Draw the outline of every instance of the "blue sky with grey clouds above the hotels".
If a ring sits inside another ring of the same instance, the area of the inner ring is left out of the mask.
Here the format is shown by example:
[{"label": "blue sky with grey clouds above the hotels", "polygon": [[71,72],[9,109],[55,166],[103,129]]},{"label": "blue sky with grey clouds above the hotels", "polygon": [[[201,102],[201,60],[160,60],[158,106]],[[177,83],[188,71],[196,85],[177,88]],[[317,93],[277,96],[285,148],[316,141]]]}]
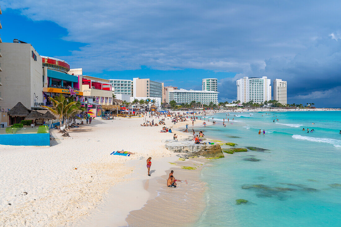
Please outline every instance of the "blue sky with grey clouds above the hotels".
[{"label": "blue sky with grey clouds above the hotels", "polygon": [[150,78],[236,100],[236,80],[287,81],[288,103],[341,107],[341,1],[1,0],[2,42],[106,79]]}]

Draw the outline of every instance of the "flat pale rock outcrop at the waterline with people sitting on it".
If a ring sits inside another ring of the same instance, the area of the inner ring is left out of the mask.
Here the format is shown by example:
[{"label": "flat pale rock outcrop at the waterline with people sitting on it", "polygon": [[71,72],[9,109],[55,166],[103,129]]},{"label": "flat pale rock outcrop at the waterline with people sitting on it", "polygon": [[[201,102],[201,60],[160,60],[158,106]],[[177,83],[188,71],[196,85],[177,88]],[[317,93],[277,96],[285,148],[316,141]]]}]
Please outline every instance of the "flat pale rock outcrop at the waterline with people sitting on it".
[{"label": "flat pale rock outcrop at the waterline with people sitting on it", "polygon": [[165,147],[174,152],[207,158],[224,157],[219,144],[195,144],[193,141],[164,140]]}]

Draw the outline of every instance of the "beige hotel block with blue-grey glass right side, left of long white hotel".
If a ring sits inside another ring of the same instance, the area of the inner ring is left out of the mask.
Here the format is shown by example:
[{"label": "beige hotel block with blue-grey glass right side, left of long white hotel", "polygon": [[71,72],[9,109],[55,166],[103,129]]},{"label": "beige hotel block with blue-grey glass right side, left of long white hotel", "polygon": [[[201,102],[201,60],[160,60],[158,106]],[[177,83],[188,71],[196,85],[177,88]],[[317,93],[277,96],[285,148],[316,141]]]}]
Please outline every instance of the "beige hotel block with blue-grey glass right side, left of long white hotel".
[{"label": "beige hotel block with blue-grey glass right side, left of long white hotel", "polygon": [[150,79],[133,78],[133,96],[162,98],[163,83]]}]

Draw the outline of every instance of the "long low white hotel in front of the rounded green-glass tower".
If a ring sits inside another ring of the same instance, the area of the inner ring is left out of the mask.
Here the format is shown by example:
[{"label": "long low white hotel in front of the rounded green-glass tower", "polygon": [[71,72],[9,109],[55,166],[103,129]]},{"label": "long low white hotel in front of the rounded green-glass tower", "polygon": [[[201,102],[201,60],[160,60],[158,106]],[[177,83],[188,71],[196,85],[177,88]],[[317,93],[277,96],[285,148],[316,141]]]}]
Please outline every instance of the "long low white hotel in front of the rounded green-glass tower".
[{"label": "long low white hotel in front of the rounded green-glass tower", "polygon": [[210,91],[194,91],[177,89],[168,92],[169,101],[175,100],[177,104],[191,103],[191,101],[201,102],[201,104],[209,105],[210,102],[218,104],[218,93]]}]

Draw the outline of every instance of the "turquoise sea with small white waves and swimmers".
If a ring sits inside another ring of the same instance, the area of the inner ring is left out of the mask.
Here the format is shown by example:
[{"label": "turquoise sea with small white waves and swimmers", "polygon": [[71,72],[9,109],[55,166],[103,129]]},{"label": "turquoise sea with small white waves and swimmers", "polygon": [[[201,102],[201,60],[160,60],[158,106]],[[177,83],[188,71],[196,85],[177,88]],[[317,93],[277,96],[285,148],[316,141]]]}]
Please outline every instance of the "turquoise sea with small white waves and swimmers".
[{"label": "turquoise sea with small white waves and swimmers", "polygon": [[203,169],[207,207],[195,226],[341,226],[340,111],[245,111],[206,120],[212,117],[217,124],[202,128],[206,136],[268,150],[224,153]]}]

